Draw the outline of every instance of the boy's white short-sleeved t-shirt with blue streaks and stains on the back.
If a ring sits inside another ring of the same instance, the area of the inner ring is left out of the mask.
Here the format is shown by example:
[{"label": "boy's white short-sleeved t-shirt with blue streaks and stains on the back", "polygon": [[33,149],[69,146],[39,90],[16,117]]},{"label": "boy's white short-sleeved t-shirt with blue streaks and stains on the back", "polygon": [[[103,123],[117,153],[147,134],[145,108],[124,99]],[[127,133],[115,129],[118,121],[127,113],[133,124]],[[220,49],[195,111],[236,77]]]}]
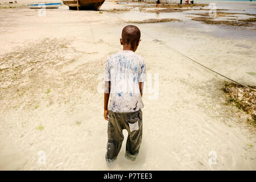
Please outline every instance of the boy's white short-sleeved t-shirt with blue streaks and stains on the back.
[{"label": "boy's white short-sleeved t-shirt with blue streaks and stains on the back", "polygon": [[108,110],[130,113],[143,107],[139,82],[146,81],[146,64],[133,51],[120,51],[106,60],[105,79],[110,81]]}]

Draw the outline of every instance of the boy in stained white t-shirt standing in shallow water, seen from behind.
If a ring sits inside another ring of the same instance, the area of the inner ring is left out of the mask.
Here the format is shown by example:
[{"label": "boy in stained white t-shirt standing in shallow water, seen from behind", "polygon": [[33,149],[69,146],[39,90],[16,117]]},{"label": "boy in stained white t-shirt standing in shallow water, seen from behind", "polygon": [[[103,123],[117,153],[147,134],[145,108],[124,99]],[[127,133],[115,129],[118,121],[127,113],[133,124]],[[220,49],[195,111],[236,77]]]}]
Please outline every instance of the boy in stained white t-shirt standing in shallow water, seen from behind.
[{"label": "boy in stained white t-shirt standing in shallow water, seen from behind", "polygon": [[117,158],[124,138],[123,129],[128,131],[127,159],[135,160],[141,146],[142,89],[146,81],[146,64],[135,53],[139,42],[139,28],[133,25],[124,27],[120,39],[123,51],[110,55],[106,60],[104,118],[109,121],[106,162]]}]

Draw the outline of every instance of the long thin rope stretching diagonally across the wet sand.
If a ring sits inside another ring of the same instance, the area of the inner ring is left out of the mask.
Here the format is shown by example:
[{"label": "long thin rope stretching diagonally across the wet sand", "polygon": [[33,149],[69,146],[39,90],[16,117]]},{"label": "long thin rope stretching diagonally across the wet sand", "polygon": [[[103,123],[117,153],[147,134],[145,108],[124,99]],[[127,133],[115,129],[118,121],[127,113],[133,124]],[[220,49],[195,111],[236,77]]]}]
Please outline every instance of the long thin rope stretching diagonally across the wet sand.
[{"label": "long thin rope stretching diagonally across the wet sand", "polygon": [[[109,5],[108,5],[108,6],[109,6]],[[120,18],[117,14],[114,14],[114,15],[117,16],[118,19],[121,19],[122,22],[128,23],[126,20],[123,20],[122,18]],[[142,31],[142,32],[143,32],[144,34],[146,34],[147,36],[149,36],[150,38],[155,39],[155,40],[158,40],[158,39],[154,38],[153,36],[147,34],[146,32],[144,32],[144,31]],[[205,68],[205,69],[208,69],[209,71],[214,72],[214,73],[216,73],[217,75],[220,75],[220,76],[222,76],[222,77],[224,77],[224,78],[226,78],[226,79],[228,79],[228,80],[230,80],[230,81],[235,82],[235,83],[238,84],[238,85],[244,86],[244,87],[246,87],[246,88],[248,88],[248,89],[253,90],[254,92],[256,92],[255,89],[250,88],[249,86],[243,85],[243,84],[241,84],[240,82],[237,82],[237,81],[233,80],[232,78],[229,78],[229,77],[227,77],[227,76],[225,76],[225,75],[222,75],[221,73],[218,73],[218,72],[214,71],[213,69],[208,68],[207,66],[205,66],[205,65],[203,65],[203,64],[201,64],[201,63],[199,63],[199,62],[197,62],[196,60],[194,60],[194,59],[192,59],[192,58],[190,58],[190,57],[184,55],[183,53],[177,51],[176,49],[174,49],[174,48],[168,46],[166,43],[163,42],[163,44],[164,44],[164,46],[166,46],[167,48],[169,48],[171,51],[174,51],[174,52],[176,52],[177,54],[179,54],[179,55],[181,55],[181,56],[183,56],[183,57],[185,57],[185,58],[187,58],[187,59],[193,61],[194,63],[200,65],[201,67],[203,67],[203,68]]]}]

